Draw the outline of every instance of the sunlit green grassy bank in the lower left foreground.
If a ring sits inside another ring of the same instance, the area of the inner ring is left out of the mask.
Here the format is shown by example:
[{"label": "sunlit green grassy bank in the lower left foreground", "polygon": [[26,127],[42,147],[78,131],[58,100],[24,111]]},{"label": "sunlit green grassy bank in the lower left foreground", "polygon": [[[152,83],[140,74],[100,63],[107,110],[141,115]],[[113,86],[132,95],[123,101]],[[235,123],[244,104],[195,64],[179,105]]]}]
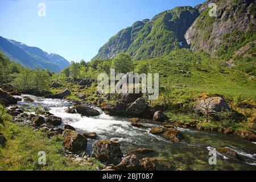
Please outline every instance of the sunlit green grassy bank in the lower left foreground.
[{"label": "sunlit green grassy bank in the lower left foreground", "polygon": [[[102,164],[92,159],[92,165],[79,163],[64,156],[63,139],[47,138],[45,133],[33,131],[31,127],[5,121],[0,132],[7,138],[5,147],[0,147],[0,170],[97,170]],[[46,165],[38,164],[38,152],[46,152]]]}]

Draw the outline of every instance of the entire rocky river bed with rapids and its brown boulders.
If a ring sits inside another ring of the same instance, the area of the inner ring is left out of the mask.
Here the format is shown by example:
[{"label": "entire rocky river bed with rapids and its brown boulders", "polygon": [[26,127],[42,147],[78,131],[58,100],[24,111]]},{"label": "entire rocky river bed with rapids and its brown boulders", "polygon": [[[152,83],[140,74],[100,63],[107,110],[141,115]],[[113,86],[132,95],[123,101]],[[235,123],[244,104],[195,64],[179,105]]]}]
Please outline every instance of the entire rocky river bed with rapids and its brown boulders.
[{"label": "entire rocky river bed with rapids and its brown boulders", "polygon": [[[15,97],[18,103],[9,107],[14,121],[44,130],[49,137],[62,135],[67,156],[81,164],[92,156],[108,166],[105,170],[256,169],[255,143],[238,135],[114,117],[89,105],[77,112],[78,106],[67,100]],[[216,152],[216,165],[209,164],[209,152]]]}]

